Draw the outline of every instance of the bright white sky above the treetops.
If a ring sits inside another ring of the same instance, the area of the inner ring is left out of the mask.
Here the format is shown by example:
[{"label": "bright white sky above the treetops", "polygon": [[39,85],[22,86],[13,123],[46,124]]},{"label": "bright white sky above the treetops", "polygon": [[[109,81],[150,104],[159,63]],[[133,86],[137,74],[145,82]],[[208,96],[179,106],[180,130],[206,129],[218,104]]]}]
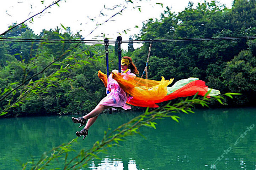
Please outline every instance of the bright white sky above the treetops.
[{"label": "bright white sky above the treetops", "polygon": [[[123,40],[128,40],[130,35],[138,34],[142,27],[142,22],[149,18],[160,18],[161,12],[166,10],[166,6],[171,8],[172,12],[178,13],[185,9],[189,0],[133,0],[134,4],[126,4],[125,0],[63,0],[59,2],[59,6],[54,5],[48,8],[44,13],[33,18],[33,23],[26,22],[28,26],[39,34],[42,29],[49,30],[50,28],[61,27],[60,23],[65,27],[70,27],[73,33],[81,30],[80,34],[85,37],[86,40],[97,39],[103,40],[103,37],[96,37],[97,35],[103,35],[109,39],[115,40],[119,33],[121,33]],[[137,2],[138,1],[138,2]],[[194,3],[194,6],[201,0],[190,0]],[[208,1],[208,0],[207,0]],[[41,12],[44,7],[52,4],[53,0],[45,0],[42,4],[41,0],[1,0],[0,3],[0,33],[3,33],[8,29],[12,23],[20,23],[34,14]],[[220,0],[220,4],[225,4],[226,7],[231,8],[233,0]],[[163,4],[157,5],[156,3]],[[114,5],[123,4],[115,10],[106,10],[106,8],[113,8]],[[111,18],[112,21],[108,21],[99,26],[92,34],[90,32],[97,26],[96,23],[102,23],[120,11],[123,6],[127,6],[123,10],[122,15],[117,15]],[[138,7],[140,6],[141,12]],[[105,16],[100,15],[100,12]],[[99,17],[100,16],[100,17]],[[91,21],[89,18],[95,18],[95,21]],[[139,26],[139,28],[135,28]],[[129,29],[127,34],[123,30]],[[90,35],[88,35],[90,34]],[[126,44],[122,45],[123,49],[127,49]],[[134,44],[134,47],[140,45]]]}]

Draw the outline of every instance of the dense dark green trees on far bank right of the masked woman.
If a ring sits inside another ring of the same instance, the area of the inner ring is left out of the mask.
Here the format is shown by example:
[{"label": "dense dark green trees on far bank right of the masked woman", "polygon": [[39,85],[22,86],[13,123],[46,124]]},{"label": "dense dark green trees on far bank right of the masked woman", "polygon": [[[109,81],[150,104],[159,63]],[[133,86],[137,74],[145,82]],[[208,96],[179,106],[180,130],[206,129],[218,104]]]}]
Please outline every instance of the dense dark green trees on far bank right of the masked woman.
[{"label": "dense dark green trees on far bank right of the masked woman", "polygon": [[[189,3],[175,14],[170,9],[160,19],[149,19],[139,39],[212,38],[256,35],[256,1],[235,0],[231,9],[216,1]],[[175,80],[198,77],[209,87],[243,95],[230,106],[254,106],[256,96],[255,39],[153,42],[149,77]],[[148,46],[133,52],[139,70],[145,67]],[[232,103],[231,103],[232,102]]]}]

